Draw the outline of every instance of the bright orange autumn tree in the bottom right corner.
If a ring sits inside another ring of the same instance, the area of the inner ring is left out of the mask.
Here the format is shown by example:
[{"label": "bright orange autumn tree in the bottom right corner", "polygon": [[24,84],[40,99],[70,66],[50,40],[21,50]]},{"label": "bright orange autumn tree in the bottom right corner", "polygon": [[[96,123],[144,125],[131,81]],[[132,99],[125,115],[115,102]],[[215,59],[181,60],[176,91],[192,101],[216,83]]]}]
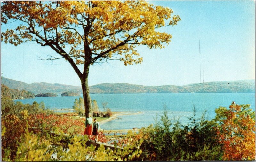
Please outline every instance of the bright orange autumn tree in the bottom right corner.
[{"label": "bright orange autumn tree in the bottom right corner", "polygon": [[229,109],[219,107],[215,113],[220,124],[223,160],[255,160],[255,111],[250,105],[233,102]]}]

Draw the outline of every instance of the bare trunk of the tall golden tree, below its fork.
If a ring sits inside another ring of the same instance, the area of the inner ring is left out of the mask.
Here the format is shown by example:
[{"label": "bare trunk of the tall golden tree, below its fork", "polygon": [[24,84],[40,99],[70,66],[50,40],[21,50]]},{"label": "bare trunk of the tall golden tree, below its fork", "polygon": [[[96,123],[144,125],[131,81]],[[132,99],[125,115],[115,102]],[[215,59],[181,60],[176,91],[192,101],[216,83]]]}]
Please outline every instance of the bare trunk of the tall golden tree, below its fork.
[{"label": "bare trunk of the tall golden tree, below its fork", "polygon": [[86,68],[85,73],[82,78],[80,78],[82,83],[83,97],[84,97],[84,109],[85,109],[85,117],[89,117],[90,110],[92,108],[91,97],[88,86],[88,75],[89,75],[89,66]]}]

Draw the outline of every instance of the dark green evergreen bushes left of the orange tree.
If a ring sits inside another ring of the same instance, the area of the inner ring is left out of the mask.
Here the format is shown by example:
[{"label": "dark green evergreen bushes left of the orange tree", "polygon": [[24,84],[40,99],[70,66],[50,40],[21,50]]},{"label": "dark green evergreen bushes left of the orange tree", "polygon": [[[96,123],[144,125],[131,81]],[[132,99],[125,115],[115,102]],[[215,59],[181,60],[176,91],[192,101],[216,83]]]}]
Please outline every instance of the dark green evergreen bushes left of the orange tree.
[{"label": "dark green evergreen bushes left of the orange tree", "polygon": [[174,124],[167,116],[164,107],[160,121],[141,129],[144,141],[141,144],[142,154],[139,160],[144,161],[179,161],[179,160],[221,160],[222,150],[218,142],[216,123],[200,119],[194,114],[187,125],[179,121]]}]

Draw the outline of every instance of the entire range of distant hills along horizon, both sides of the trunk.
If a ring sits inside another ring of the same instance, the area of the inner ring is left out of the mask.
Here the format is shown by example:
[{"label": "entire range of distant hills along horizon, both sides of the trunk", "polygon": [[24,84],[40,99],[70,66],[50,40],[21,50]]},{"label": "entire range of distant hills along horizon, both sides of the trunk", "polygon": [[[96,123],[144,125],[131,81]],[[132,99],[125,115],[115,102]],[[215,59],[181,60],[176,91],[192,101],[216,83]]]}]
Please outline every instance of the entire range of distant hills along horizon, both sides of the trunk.
[{"label": "entire range of distant hills along horizon, both sides of the trunk", "polygon": [[[2,77],[2,84],[12,89],[25,89],[35,94],[37,93],[63,93],[73,91],[82,93],[80,86],[70,86],[64,84],[32,83],[27,84],[21,81]],[[103,83],[90,86],[90,93],[214,93],[214,92],[255,92],[255,80],[240,81],[216,81],[201,84],[188,84],[184,86],[164,85],[164,86],[143,86],[127,83]]]}]

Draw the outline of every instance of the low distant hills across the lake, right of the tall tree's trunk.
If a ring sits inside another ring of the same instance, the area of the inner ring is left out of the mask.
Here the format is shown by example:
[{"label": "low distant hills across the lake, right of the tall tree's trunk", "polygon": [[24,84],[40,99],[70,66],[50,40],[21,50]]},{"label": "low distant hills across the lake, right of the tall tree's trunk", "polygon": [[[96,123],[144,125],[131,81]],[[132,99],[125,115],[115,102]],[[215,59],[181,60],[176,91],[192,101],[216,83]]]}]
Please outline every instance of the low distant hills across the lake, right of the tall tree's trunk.
[{"label": "low distant hills across the lake, right of the tall tree's trunk", "polygon": [[133,85],[127,83],[116,83],[116,84],[98,84],[91,86],[95,93],[214,93],[214,92],[255,92],[255,81],[217,81],[217,82],[206,82],[201,84],[188,84],[184,86],[142,86]]}]

